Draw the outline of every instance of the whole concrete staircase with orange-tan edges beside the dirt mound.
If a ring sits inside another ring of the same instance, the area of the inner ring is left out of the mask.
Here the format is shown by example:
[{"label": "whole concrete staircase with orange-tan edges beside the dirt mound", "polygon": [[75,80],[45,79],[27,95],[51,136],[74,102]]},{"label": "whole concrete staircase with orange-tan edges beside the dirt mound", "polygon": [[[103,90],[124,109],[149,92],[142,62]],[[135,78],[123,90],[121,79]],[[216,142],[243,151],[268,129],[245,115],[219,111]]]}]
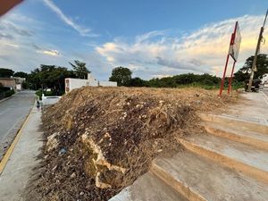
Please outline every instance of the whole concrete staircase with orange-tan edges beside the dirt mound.
[{"label": "whole concrete staircase with orange-tan edges beside the dirt mound", "polygon": [[268,200],[268,126],[235,116],[201,114],[205,134],[158,158],[111,201]]}]

